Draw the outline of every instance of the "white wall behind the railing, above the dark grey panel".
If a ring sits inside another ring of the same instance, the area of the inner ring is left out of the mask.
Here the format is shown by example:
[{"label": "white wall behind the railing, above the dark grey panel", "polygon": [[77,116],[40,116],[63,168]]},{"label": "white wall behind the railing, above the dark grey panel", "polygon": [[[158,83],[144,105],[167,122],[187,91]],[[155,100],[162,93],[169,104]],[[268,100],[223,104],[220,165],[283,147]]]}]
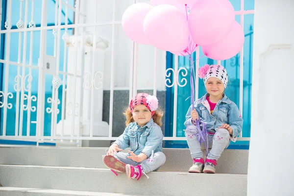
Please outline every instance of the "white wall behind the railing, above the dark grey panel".
[{"label": "white wall behind the railing, above the dark grey panel", "polygon": [[[111,22],[113,14],[113,0],[86,0],[81,5],[81,10],[87,13],[87,23],[95,23],[97,14],[97,23]],[[149,2],[141,0],[140,2]],[[123,12],[131,3],[129,0],[116,0],[115,21],[121,21]],[[88,30],[92,31],[90,27]],[[122,25],[115,27],[115,89],[129,88],[129,75],[131,63],[131,40],[124,34]],[[109,48],[105,53],[104,68],[104,89],[110,89],[110,67],[111,67],[111,49],[112,49],[112,25],[98,26],[97,35],[106,38],[109,42]],[[159,50],[157,52],[157,89],[165,90],[165,70],[166,70],[166,52]],[[138,47],[138,89],[153,89],[154,73],[154,47],[150,45],[139,45]]]}]

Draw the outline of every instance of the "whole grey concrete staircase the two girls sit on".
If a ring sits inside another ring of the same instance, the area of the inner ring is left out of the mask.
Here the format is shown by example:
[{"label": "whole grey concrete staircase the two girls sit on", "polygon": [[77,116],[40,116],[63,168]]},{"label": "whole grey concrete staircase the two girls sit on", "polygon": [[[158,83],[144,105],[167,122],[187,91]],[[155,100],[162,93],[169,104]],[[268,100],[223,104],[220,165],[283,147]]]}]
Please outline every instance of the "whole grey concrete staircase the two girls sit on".
[{"label": "whole grey concrete staircase the two girls sit on", "polygon": [[160,171],[130,181],[104,166],[105,149],[2,146],[0,196],[246,196],[248,150],[227,149],[216,174],[196,174],[189,149],[164,148]]}]

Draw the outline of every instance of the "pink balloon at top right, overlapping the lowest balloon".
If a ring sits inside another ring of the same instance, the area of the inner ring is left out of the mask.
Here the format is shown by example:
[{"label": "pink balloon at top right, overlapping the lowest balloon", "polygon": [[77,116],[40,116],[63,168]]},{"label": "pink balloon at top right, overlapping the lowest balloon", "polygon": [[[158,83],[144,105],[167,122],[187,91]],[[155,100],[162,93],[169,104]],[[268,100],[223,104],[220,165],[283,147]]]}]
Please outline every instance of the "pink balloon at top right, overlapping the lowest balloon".
[{"label": "pink balloon at top right, overlapping the lowest balloon", "polygon": [[220,41],[234,21],[235,12],[229,0],[197,0],[189,14],[190,32],[200,46]]}]

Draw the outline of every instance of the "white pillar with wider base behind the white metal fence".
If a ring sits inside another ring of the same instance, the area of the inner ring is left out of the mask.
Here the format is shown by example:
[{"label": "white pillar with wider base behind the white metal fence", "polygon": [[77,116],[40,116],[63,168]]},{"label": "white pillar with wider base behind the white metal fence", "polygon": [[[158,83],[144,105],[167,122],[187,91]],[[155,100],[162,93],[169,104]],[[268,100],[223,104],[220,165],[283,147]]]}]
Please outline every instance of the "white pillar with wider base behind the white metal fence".
[{"label": "white pillar with wider base behind the white metal fence", "polygon": [[[108,48],[109,43],[106,39],[97,37],[96,51],[93,54],[93,33],[87,32],[85,37],[85,42],[81,43],[81,36],[79,36],[77,53],[76,49],[73,46],[74,36],[70,36],[65,42],[68,45],[68,73],[73,73],[75,67],[74,65],[74,55],[77,55],[77,75],[81,77],[76,78],[76,94],[75,102],[76,105],[73,105],[72,100],[72,85],[73,85],[73,76],[67,77],[67,90],[66,90],[66,110],[65,110],[65,120],[61,120],[57,124],[56,136],[61,135],[63,129],[64,136],[70,136],[71,130],[68,129],[71,124],[72,115],[75,115],[75,128],[73,136],[90,136],[90,109],[94,107],[94,136],[108,136],[109,125],[106,122],[102,121],[102,106],[103,106],[103,73],[104,73],[104,56],[105,50]],[[84,45],[84,46],[83,46]],[[82,50],[82,51],[81,51]],[[81,53],[83,56],[81,57]],[[92,73],[92,58],[96,59],[94,73]],[[84,73],[82,73],[82,68]],[[94,77],[94,76],[95,77]],[[81,80],[81,78],[83,78]],[[94,78],[94,81],[93,81]],[[82,88],[81,88],[82,87]],[[91,105],[91,89],[94,88],[94,98],[95,102]],[[81,99],[83,96],[83,99]],[[81,105],[81,102],[83,104]],[[72,110],[75,107],[75,114]],[[80,110],[82,107],[82,110]],[[79,112],[82,111],[82,114]],[[78,129],[81,129],[80,135],[77,135]]]}]

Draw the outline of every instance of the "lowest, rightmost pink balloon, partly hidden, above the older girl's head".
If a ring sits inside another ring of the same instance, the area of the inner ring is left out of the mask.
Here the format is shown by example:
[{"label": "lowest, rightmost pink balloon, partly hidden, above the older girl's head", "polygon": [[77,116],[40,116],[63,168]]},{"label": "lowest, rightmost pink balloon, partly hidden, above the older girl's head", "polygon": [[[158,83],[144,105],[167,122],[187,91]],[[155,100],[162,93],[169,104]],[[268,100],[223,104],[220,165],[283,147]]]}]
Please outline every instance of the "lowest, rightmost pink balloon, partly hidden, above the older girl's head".
[{"label": "lowest, rightmost pink balloon, partly hidden, above the older girl's head", "polygon": [[244,31],[241,25],[235,21],[230,32],[221,41],[202,46],[202,51],[211,59],[225,60],[238,54],[244,45],[244,41]]}]

